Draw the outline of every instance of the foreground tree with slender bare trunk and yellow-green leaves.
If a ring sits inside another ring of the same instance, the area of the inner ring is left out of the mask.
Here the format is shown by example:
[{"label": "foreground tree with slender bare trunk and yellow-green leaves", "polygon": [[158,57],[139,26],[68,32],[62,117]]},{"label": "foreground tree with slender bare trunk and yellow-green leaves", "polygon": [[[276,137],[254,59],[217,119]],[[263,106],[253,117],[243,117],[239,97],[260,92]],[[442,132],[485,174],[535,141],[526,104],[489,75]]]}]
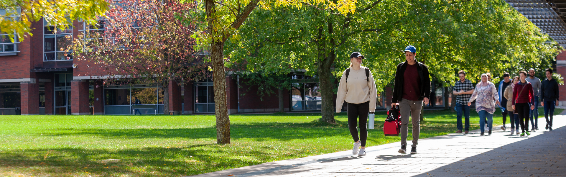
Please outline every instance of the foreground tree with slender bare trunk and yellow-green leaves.
[{"label": "foreground tree with slender bare trunk and yellow-green leaves", "polygon": [[198,42],[210,52],[212,62],[215,114],[216,114],[216,142],[217,144],[230,143],[230,119],[226,102],[226,73],[225,64],[228,59],[224,56],[224,44],[227,40],[237,40],[239,29],[244,22],[250,22],[248,16],[256,7],[262,10],[275,10],[278,7],[324,6],[345,14],[355,8],[354,0],[340,2],[325,0],[234,0],[215,1],[204,0],[204,16],[206,27],[201,28]]}]

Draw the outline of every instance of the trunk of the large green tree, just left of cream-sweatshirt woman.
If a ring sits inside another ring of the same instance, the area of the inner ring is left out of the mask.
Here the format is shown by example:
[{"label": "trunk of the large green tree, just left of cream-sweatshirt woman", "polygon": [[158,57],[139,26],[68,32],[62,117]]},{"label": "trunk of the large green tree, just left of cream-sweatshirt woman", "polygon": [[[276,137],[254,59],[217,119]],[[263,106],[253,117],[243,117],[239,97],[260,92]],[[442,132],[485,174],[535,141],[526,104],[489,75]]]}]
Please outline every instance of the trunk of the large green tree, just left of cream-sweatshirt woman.
[{"label": "trunk of the large green tree, just left of cream-sweatshirt woman", "polygon": [[332,66],[335,58],[336,55],[332,53],[326,57],[326,60],[318,62],[320,93],[322,97],[321,120],[331,124],[336,123],[334,119],[334,92],[332,91],[334,85],[331,82],[332,73],[330,71],[330,66]]}]

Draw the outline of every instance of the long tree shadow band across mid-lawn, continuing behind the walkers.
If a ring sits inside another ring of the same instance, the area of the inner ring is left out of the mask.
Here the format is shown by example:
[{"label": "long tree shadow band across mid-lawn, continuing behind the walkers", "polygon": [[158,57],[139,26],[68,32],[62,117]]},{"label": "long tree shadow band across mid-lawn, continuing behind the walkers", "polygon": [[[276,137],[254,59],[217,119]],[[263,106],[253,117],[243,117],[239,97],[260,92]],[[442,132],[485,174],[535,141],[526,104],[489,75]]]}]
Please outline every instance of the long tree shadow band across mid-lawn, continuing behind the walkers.
[{"label": "long tree shadow band across mid-lawn, continuing behind the walkers", "polygon": [[[410,127],[410,125],[409,125]],[[471,128],[475,128],[472,125]],[[348,123],[249,123],[232,124],[230,134],[233,140],[251,139],[255,141],[291,141],[334,136],[349,136]],[[422,124],[421,133],[453,132],[453,121],[430,121]],[[383,138],[383,121],[376,120],[375,129],[369,130],[371,137]],[[409,128],[409,132],[412,129]],[[215,138],[216,128],[136,128],[136,129],[53,129],[43,132],[44,136],[95,136],[102,138]],[[426,136],[423,134],[422,136]]]}]

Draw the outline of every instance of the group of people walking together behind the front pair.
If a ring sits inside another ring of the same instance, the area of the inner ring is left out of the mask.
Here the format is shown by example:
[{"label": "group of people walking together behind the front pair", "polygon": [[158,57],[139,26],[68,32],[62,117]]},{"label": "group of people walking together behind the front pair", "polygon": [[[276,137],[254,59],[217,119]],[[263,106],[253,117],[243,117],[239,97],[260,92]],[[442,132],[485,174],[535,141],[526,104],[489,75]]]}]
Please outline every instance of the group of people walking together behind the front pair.
[{"label": "group of people walking together behind the front pair", "polygon": [[[503,116],[503,126],[501,129],[507,130],[505,123],[507,115],[511,122],[511,135],[518,135],[521,127],[521,137],[529,136],[530,132],[538,130],[538,103],[541,98],[541,105],[544,106],[544,117],[546,118],[546,129],[552,131],[552,116],[554,108],[558,106],[559,89],[558,82],[552,79],[552,69],[544,71],[546,79],[534,77],[535,70],[530,69],[529,73],[520,71],[517,76],[510,79],[509,73],[503,74],[503,81],[499,83],[496,90],[494,83],[490,82],[490,74],[482,74],[481,82],[475,88],[471,81],[466,79],[466,72],[458,72],[460,81],[453,87],[453,94],[456,96],[457,112],[457,131],[462,133],[462,115],[465,118],[465,132],[470,128],[470,105],[476,101],[475,110],[479,114],[479,124],[481,136],[487,129],[491,135],[493,124],[493,113],[496,107],[501,109]],[[467,105],[464,105],[467,104]],[[550,119],[549,119],[550,117]],[[529,131],[529,119],[531,129]]]}]

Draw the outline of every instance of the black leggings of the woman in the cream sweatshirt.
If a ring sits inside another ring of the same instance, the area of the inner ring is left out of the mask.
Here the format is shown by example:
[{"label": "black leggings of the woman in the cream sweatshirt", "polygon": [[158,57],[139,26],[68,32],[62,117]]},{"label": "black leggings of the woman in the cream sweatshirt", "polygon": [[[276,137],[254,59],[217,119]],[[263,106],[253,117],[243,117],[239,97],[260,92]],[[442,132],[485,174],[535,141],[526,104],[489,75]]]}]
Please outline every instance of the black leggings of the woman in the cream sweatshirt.
[{"label": "black leggings of the woman in the cream sweatshirt", "polygon": [[370,112],[370,102],[353,104],[348,103],[348,127],[350,134],[354,138],[354,142],[358,142],[358,129],[356,122],[359,116],[359,136],[361,137],[362,146],[366,146],[367,140],[367,114]]}]

